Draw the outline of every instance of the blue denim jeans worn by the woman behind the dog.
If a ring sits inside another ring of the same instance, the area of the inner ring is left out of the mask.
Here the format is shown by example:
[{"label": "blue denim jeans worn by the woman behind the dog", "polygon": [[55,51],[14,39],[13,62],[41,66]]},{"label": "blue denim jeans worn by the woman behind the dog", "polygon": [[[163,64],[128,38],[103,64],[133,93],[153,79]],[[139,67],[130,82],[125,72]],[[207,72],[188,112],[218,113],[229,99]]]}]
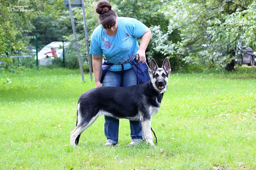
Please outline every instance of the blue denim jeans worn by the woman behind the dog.
[{"label": "blue denim jeans worn by the woman behind the dog", "polygon": [[[119,87],[121,83],[121,72],[108,70],[102,82],[102,86]],[[138,82],[140,83],[140,82]],[[137,85],[137,76],[134,70],[124,70],[123,87]],[[125,102],[125,100],[124,100]],[[120,108],[122,109],[122,108]],[[119,120],[105,116],[104,131],[107,137],[107,142],[118,144],[118,128]],[[131,137],[133,142],[140,142],[142,140],[141,122],[130,121]]]}]

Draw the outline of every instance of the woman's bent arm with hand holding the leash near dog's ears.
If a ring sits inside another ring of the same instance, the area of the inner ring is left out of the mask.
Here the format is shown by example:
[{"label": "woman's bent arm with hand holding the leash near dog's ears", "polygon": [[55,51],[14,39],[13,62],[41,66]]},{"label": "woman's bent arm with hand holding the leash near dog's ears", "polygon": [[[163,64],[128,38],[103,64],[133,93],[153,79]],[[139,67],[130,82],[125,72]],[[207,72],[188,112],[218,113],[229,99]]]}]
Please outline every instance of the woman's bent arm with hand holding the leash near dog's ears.
[{"label": "woman's bent arm with hand holding the leash near dog's ears", "polygon": [[147,27],[146,28],[146,32],[142,35],[141,37],[141,40],[140,40],[140,48],[139,50],[137,51],[136,54],[139,54],[140,55],[140,61],[142,63],[145,63],[146,62],[146,54],[145,54],[145,51],[146,51],[146,48],[148,47],[148,43],[150,41],[150,38],[151,38],[151,31],[150,29]]}]

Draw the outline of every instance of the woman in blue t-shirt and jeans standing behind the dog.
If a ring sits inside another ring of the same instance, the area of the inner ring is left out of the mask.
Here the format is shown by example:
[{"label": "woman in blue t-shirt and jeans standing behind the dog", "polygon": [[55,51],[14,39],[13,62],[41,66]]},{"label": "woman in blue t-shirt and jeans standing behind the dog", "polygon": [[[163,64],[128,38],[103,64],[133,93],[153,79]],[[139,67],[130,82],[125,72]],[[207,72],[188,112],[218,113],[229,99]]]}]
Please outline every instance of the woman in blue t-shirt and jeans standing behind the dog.
[{"label": "woman in blue t-shirt and jeans standing behind the dog", "polygon": [[[117,17],[107,1],[97,4],[100,25],[92,33],[92,67],[96,87],[131,86],[149,80],[148,66],[145,63],[145,50],[151,37],[147,26],[134,18]],[[140,46],[136,38],[141,37]],[[102,64],[102,54],[105,62]],[[138,54],[138,55],[136,55]],[[135,58],[140,57],[138,67]],[[138,69],[138,72],[137,72]],[[122,109],[122,108],[120,108]],[[105,145],[118,144],[119,120],[105,116]],[[142,140],[141,122],[130,121],[132,141],[129,145]]]}]

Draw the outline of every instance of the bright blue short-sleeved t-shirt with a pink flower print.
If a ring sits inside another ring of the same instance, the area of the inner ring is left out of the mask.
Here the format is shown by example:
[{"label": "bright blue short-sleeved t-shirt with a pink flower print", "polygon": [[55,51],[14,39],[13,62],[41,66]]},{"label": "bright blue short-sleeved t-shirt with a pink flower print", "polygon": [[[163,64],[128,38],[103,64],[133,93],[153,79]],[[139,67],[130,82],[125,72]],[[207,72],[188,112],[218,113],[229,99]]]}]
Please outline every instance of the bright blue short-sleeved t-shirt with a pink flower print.
[{"label": "bright blue short-sleeved t-shirt with a pink flower print", "polygon": [[108,70],[121,71],[132,68],[129,63],[135,58],[139,45],[136,40],[146,32],[146,26],[134,18],[117,17],[116,35],[108,36],[102,25],[97,26],[91,39],[90,54],[104,55],[109,63],[114,63]]}]

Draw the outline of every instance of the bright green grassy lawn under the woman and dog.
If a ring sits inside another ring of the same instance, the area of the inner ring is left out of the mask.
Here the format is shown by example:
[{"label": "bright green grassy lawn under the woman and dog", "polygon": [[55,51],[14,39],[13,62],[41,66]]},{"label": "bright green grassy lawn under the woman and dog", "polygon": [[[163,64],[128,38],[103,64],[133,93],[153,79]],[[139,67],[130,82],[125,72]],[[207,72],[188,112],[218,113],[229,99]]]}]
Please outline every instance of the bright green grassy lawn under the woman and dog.
[{"label": "bright green grassy lawn under the woman and dog", "polygon": [[126,147],[128,120],[105,147],[103,116],[70,147],[77,100],[95,86],[85,80],[68,69],[0,74],[0,169],[256,169],[255,69],[171,73],[155,147]]}]

